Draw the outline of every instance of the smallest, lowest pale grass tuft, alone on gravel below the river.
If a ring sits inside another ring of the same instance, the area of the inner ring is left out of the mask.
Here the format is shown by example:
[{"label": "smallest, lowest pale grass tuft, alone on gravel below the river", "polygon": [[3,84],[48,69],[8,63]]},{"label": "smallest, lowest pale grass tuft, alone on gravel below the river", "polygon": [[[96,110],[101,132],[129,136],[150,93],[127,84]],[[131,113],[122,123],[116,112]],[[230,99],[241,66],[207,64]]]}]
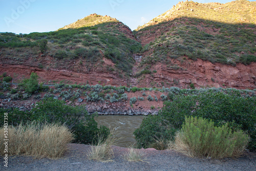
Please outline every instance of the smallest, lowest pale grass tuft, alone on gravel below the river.
[{"label": "smallest, lowest pale grass tuft, alone on gravel below the river", "polygon": [[134,148],[134,146],[129,147],[128,151],[122,157],[127,161],[146,162],[143,152],[138,148]]}]

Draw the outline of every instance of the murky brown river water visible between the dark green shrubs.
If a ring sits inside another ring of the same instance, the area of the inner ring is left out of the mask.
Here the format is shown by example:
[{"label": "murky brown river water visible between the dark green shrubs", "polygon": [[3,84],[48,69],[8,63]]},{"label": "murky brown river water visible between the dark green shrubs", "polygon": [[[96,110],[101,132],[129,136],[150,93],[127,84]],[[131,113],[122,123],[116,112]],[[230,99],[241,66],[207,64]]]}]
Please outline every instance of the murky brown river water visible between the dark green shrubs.
[{"label": "murky brown river water visible between the dark green shrubs", "polygon": [[133,132],[140,126],[145,116],[121,116],[121,115],[100,115],[94,119],[98,125],[115,128],[117,131],[116,146],[129,147],[135,144]]}]

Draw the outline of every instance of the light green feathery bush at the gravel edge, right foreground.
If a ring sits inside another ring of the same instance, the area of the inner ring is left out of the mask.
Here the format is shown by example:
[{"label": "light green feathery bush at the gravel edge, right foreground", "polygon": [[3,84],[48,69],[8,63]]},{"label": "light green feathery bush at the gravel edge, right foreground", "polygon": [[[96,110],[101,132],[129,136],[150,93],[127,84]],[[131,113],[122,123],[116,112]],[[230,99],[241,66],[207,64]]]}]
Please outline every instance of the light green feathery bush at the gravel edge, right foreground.
[{"label": "light green feathery bush at the gravel edge, right foreground", "polygon": [[232,132],[228,123],[217,127],[213,121],[185,117],[176,135],[174,148],[191,157],[239,157],[248,145],[249,136],[243,131]]}]

